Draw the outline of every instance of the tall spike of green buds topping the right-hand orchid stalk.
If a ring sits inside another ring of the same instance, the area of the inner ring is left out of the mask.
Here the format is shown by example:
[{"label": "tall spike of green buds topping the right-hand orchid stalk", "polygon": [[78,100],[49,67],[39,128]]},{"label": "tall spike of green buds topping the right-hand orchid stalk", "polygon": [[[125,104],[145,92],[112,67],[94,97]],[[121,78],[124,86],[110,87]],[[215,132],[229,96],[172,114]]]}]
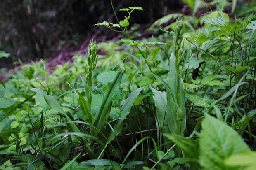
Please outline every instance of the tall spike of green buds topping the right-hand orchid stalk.
[{"label": "tall spike of green buds topping the right-hand orchid stalk", "polygon": [[174,48],[174,52],[177,58],[180,58],[180,55],[183,52],[182,49],[182,40],[183,40],[183,32],[184,32],[184,28],[183,28],[183,22],[180,18],[177,19],[176,21],[176,25],[174,28],[174,34],[173,34],[173,48]]}]

